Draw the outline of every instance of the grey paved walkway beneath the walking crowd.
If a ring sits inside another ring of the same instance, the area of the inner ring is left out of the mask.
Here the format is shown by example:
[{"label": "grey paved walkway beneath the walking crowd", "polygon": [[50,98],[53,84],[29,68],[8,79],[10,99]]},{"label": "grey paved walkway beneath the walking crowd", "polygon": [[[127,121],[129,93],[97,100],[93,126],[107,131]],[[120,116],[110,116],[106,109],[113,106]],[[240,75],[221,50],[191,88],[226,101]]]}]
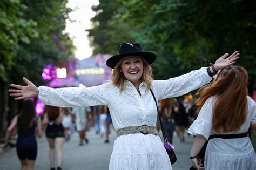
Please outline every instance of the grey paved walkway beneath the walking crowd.
[{"label": "grey paved walkway beneath the walking crowd", "polygon": [[[109,160],[112,153],[113,142],[117,135],[113,131],[110,134],[110,143],[104,144],[104,138],[95,134],[95,130],[91,128],[87,137],[89,144],[84,146],[78,146],[79,137],[75,132],[71,140],[64,143],[63,149],[63,169],[89,169],[89,170],[101,170],[108,169]],[[185,143],[178,143],[178,139],[175,135],[173,145],[175,146],[177,162],[172,166],[174,170],[189,169],[190,162],[190,149],[193,142],[193,137],[185,138]],[[50,161],[48,157],[48,142],[45,136],[38,139],[38,154],[35,164],[36,170],[50,169]],[[0,151],[0,170],[19,169],[20,164],[16,154],[15,148],[10,148],[6,152]],[[160,170],[160,169],[159,169]]]}]

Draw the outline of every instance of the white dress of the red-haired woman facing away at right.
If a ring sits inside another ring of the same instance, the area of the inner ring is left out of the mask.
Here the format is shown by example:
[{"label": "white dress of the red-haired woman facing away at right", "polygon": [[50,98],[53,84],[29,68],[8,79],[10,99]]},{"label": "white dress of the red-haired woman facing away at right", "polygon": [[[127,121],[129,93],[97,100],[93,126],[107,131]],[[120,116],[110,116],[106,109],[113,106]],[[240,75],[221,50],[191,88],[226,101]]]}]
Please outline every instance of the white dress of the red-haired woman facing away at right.
[{"label": "white dress of the red-haired woman facing away at right", "polygon": [[[217,134],[212,130],[212,103],[214,98],[208,98],[198,114],[198,118],[188,129],[188,133],[201,134],[206,139],[211,134]],[[240,130],[221,133],[238,134],[245,133],[250,127],[251,121],[256,121],[255,102],[247,97],[247,117]],[[208,141],[205,152],[205,169],[227,169],[227,170],[255,170],[255,152],[250,138],[220,139],[213,138]]]}]

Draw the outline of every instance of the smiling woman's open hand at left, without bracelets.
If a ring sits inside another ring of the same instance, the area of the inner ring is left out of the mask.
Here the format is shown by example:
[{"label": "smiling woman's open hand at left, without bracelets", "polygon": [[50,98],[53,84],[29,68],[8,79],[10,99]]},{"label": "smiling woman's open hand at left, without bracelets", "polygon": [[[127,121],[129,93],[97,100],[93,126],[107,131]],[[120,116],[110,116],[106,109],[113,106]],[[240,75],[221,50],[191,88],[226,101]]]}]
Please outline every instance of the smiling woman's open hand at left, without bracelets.
[{"label": "smiling woman's open hand at left, without bracelets", "polygon": [[17,84],[10,85],[11,87],[16,88],[9,90],[9,92],[11,92],[10,96],[15,97],[15,100],[38,97],[38,88],[25,77],[23,77],[23,81],[27,84],[27,86]]}]

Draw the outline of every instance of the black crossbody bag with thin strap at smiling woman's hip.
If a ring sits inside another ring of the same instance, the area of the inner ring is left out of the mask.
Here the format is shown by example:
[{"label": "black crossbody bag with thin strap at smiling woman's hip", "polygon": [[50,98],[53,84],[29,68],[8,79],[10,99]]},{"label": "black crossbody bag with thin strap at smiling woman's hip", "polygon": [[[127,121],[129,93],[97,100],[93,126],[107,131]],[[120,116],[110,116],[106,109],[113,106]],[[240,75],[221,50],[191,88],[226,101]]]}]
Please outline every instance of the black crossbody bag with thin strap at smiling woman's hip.
[{"label": "black crossbody bag with thin strap at smiling woman's hip", "polygon": [[[157,106],[157,100],[156,100],[156,97],[154,96],[154,93],[153,91],[150,89],[151,91],[151,94],[154,98],[154,102],[156,103],[156,106]],[[163,123],[161,121],[161,118],[160,118],[160,113],[158,111],[158,106],[157,106],[157,114],[158,114],[158,118],[159,118],[159,121],[160,121],[160,125],[161,125],[161,130],[162,130],[162,133],[163,133],[163,137],[164,137],[164,147],[165,147],[165,150],[169,156],[169,159],[171,161],[171,164],[174,164],[176,161],[177,161],[177,157],[176,157],[176,154],[174,152],[174,147],[173,145],[171,145],[168,141],[167,141],[167,138],[166,138],[166,135],[165,135],[165,132],[164,132],[164,127],[163,127]]]}]

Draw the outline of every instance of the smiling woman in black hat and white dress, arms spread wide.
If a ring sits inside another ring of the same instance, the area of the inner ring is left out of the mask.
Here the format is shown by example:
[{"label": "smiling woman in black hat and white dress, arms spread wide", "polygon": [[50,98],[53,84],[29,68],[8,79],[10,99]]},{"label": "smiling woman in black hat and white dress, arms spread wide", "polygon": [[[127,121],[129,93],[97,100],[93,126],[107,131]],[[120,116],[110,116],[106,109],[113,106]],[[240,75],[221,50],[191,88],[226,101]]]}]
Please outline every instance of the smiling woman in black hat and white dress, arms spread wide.
[{"label": "smiling woman in black hat and white dress, arms spread wide", "polygon": [[93,87],[54,89],[36,87],[23,78],[26,86],[11,84],[10,96],[16,100],[39,97],[44,104],[61,107],[107,105],[118,138],[114,141],[109,169],[172,169],[171,162],[156,130],[157,100],[177,97],[210,83],[214,72],[235,63],[238,51],[176,78],[153,80],[152,64],[156,55],[144,52],[138,43],[122,43],[118,55],[106,61],[113,69],[112,81]]}]

